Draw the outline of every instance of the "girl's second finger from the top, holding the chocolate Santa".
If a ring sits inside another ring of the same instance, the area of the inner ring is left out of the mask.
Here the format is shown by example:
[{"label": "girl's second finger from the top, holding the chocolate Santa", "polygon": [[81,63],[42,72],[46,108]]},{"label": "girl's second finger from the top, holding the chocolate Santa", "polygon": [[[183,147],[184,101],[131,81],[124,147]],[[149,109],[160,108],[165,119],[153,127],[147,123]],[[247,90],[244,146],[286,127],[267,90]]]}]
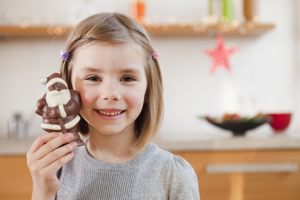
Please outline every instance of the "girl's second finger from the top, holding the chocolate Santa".
[{"label": "girl's second finger from the top, holding the chocolate Santa", "polygon": [[59,148],[63,144],[71,142],[73,139],[73,134],[72,133],[66,133],[63,135],[60,135],[59,137],[55,137],[52,140],[48,141],[46,144],[41,146],[37,151],[36,151],[36,160],[40,160],[50,152],[54,151],[55,149]]}]

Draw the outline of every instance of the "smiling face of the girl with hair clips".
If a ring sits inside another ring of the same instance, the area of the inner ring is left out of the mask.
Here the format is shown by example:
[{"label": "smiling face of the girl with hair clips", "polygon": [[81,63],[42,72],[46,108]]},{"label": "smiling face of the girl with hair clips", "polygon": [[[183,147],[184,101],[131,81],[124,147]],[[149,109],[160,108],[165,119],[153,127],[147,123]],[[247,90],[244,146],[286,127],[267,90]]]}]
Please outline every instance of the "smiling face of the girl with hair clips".
[{"label": "smiling face of the girl with hair clips", "polygon": [[71,83],[90,133],[134,134],[147,89],[144,55],[135,44],[95,41],[75,50]]}]

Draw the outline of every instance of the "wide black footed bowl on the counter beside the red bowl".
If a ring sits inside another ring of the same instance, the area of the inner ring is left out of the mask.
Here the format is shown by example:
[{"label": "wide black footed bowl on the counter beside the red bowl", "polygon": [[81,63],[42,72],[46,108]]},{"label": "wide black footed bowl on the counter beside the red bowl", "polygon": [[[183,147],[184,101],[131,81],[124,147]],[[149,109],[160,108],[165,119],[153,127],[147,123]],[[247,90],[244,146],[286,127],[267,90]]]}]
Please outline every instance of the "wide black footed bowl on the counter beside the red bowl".
[{"label": "wide black footed bowl on the counter beside the red bowl", "polygon": [[245,135],[247,130],[254,129],[266,122],[269,122],[268,120],[255,120],[255,121],[227,121],[227,122],[217,123],[209,119],[206,120],[221,129],[231,130],[234,136],[243,136]]}]

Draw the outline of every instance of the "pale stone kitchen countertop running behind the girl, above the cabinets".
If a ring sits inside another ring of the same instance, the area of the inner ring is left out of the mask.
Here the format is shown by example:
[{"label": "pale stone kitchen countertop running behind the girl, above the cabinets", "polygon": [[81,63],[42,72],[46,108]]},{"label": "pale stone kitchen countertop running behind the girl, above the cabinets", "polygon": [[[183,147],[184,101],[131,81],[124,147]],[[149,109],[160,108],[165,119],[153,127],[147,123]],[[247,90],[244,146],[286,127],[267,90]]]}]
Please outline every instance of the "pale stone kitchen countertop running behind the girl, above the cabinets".
[{"label": "pale stone kitchen countertop running behind the girl, above the cabinets", "polygon": [[[271,134],[264,137],[159,137],[156,144],[168,151],[222,151],[222,150],[279,150],[300,149],[300,133]],[[0,140],[0,155],[25,155],[34,139]]]}]

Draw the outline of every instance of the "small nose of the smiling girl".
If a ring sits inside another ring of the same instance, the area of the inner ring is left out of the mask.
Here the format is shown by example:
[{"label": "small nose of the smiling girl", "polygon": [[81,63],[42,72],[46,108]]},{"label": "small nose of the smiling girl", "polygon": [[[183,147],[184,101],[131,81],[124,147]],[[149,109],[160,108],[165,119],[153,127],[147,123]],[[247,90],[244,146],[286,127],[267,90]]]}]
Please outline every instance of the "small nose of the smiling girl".
[{"label": "small nose of the smiling girl", "polygon": [[119,89],[111,83],[103,84],[100,89],[100,98],[106,101],[118,101],[121,99]]}]

